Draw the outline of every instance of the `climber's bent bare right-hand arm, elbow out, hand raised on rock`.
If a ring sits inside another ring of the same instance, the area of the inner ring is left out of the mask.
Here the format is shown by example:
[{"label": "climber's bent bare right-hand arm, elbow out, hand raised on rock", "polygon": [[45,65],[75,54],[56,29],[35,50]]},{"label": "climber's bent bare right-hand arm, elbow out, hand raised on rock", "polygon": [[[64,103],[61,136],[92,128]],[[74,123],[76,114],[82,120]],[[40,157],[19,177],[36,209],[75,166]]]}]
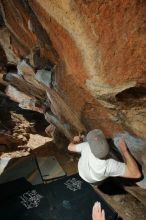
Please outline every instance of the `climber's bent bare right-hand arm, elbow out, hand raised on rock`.
[{"label": "climber's bent bare right-hand arm, elbow out, hand raised on rock", "polygon": [[132,154],[130,153],[127,144],[125,143],[124,139],[119,140],[119,147],[125,161],[126,167],[123,177],[127,178],[140,178],[141,172],[137,165],[137,162],[133,158]]}]

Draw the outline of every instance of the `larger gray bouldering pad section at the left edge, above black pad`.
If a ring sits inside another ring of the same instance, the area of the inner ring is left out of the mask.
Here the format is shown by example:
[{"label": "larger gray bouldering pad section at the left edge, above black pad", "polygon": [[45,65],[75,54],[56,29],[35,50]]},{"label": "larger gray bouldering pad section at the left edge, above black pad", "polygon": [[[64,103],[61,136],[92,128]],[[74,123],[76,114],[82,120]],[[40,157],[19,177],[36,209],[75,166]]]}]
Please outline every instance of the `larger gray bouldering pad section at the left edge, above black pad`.
[{"label": "larger gray bouldering pad section at the left edge, above black pad", "polygon": [[3,167],[3,172],[0,175],[0,183],[6,183],[21,177],[25,177],[33,185],[43,183],[33,156],[13,159],[2,158],[0,165]]}]

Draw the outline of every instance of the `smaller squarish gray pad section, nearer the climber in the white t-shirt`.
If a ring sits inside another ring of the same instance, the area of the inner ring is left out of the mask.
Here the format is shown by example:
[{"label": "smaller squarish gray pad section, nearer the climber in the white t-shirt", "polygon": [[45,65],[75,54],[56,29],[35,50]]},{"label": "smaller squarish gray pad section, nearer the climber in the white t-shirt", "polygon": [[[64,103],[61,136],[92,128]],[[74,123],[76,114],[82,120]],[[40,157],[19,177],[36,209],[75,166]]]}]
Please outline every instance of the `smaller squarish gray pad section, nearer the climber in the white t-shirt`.
[{"label": "smaller squarish gray pad section, nearer the climber in the white t-shirt", "polygon": [[44,181],[65,176],[65,172],[54,156],[37,157],[38,166]]}]

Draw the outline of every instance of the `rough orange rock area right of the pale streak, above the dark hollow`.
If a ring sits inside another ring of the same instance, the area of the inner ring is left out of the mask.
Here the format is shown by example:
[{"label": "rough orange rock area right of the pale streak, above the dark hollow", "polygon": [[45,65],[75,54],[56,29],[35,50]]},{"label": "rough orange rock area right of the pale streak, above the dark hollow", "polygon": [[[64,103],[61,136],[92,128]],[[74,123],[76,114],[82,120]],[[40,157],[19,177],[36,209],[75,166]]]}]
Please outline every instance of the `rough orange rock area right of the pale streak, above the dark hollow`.
[{"label": "rough orange rock area right of the pale streak, above the dark hollow", "polygon": [[94,34],[99,47],[100,77],[112,85],[130,80],[138,82],[141,78],[146,83],[145,1],[75,2],[85,19],[87,31]]}]

